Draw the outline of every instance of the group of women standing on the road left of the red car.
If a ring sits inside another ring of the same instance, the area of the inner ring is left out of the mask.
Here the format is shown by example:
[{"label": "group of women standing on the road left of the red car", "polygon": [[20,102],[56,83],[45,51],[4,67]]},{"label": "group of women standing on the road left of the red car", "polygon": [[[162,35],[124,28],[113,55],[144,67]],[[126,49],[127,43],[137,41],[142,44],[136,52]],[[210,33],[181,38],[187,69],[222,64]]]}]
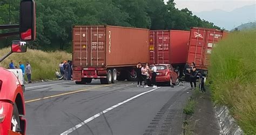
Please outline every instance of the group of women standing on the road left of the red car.
[{"label": "group of women standing on the road left of the red car", "polygon": [[[152,72],[152,76],[150,76],[150,72]],[[149,87],[149,79],[151,77],[151,83],[153,85],[153,88],[156,88],[156,77],[157,77],[157,67],[155,64],[152,64],[152,68],[150,69],[149,64],[146,63],[145,65],[142,65],[141,63],[137,64],[136,67],[136,73],[137,73],[137,86],[139,85],[143,87],[142,82],[144,81],[144,87]]]}]

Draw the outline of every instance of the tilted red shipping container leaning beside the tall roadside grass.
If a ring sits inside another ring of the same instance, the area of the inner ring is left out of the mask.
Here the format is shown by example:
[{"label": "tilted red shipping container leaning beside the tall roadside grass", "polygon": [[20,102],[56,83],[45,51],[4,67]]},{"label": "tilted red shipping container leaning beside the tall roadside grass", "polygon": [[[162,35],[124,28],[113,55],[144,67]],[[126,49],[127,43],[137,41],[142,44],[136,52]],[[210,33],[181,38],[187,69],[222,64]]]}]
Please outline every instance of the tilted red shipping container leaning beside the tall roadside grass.
[{"label": "tilted red shipping container leaning beside the tall roadside grass", "polygon": [[197,69],[207,70],[213,47],[227,35],[217,29],[191,28],[187,64],[194,62]]}]

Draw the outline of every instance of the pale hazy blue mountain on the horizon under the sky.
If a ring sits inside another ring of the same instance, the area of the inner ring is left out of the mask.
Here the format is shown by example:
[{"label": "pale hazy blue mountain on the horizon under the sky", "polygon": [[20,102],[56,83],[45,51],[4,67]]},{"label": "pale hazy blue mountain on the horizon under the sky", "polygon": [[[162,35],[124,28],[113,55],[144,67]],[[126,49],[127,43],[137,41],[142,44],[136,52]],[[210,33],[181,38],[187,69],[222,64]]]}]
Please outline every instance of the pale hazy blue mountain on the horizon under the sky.
[{"label": "pale hazy blue mountain on the horizon under the sky", "polygon": [[193,12],[193,14],[206,21],[213,22],[221,28],[232,30],[241,24],[256,21],[256,4],[246,5],[231,12],[215,9],[212,11]]}]

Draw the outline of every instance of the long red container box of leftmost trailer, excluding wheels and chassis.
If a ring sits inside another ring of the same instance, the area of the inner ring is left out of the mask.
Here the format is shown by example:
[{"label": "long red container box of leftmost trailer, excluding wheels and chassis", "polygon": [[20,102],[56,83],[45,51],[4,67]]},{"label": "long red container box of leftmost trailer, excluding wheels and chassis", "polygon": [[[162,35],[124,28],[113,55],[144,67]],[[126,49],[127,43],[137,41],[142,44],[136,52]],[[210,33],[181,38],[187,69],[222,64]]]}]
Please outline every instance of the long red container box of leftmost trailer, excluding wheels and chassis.
[{"label": "long red container box of leftmost trailer, excluding wheels and chassis", "polygon": [[147,29],[74,26],[73,66],[111,68],[147,63],[148,42]]}]

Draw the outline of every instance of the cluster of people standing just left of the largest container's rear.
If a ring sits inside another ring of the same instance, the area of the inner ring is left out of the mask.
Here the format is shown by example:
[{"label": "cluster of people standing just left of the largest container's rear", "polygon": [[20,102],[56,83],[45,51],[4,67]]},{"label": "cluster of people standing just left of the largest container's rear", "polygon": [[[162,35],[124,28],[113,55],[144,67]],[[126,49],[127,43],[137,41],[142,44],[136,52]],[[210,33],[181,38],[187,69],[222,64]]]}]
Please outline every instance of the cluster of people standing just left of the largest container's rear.
[{"label": "cluster of people standing just left of the largest container's rear", "polygon": [[60,74],[63,76],[64,80],[71,80],[72,79],[72,61],[71,60],[63,60],[59,64],[59,71]]}]

